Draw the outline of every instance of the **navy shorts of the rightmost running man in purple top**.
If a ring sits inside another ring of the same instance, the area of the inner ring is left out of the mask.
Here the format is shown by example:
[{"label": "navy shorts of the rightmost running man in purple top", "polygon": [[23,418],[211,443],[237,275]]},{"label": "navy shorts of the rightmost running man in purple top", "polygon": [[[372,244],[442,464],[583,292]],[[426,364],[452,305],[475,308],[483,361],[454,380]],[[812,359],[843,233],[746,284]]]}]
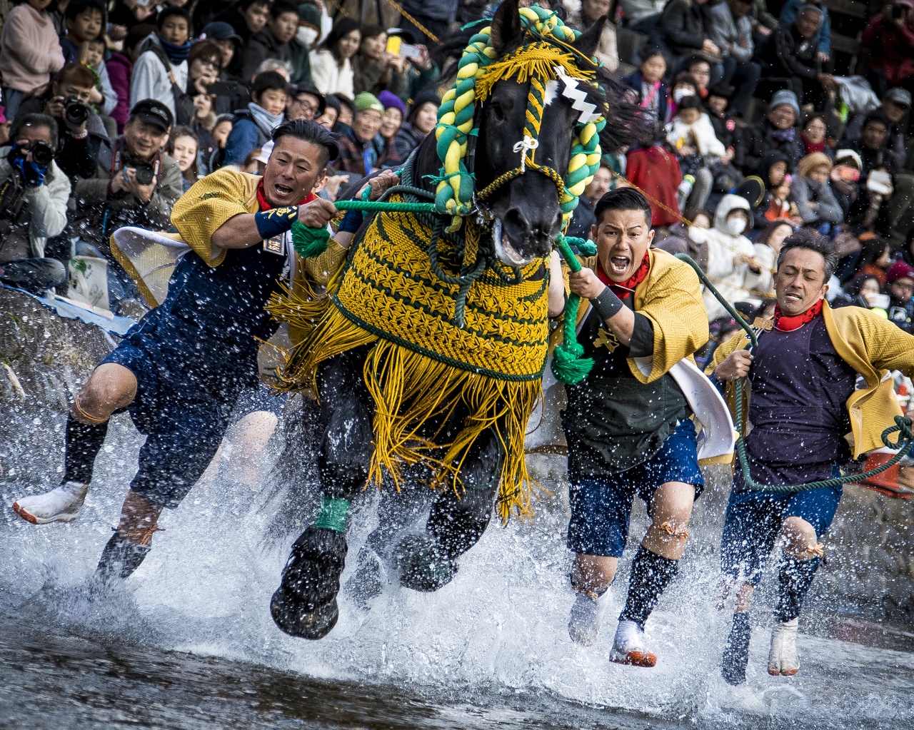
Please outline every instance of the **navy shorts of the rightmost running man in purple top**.
[{"label": "navy shorts of the rightmost running man in purple top", "polygon": [[841,492],[840,486],[792,494],[730,492],[720,537],[721,571],[758,586],[768,556],[781,534],[781,523],[788,517],[801,517],[813,525],[816,536],[821,538],[834,520]]}]

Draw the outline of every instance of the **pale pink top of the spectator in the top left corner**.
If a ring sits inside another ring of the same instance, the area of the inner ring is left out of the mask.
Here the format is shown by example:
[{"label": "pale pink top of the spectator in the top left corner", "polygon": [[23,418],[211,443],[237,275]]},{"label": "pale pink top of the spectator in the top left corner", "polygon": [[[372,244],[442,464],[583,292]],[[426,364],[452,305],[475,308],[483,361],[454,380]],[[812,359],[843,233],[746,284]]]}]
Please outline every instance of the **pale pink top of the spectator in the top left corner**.
[{"label": "pale pink top of the spectator in the top left corner", "polygon": [[31,91],[47,84],[63,68],[57,29],[47,13],[23,3],[16,5],[0,36],[0,74],[5,88]]}]

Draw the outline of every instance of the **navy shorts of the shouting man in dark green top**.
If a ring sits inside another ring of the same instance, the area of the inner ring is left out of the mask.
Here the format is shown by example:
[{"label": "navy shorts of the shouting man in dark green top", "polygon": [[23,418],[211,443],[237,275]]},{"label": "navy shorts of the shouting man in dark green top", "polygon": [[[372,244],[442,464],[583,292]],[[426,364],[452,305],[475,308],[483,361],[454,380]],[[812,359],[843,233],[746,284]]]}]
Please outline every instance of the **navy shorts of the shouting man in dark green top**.
[{"label": "navy shorts of the shouting man in dark green top", "polygon": [[621,557],[635,495],[643,499],[650,513],[654,492],[667,481],[692,484],[696,499],[705,487],[691,420],[677,423],[660,450],[643,464],[611,476],[574,481],[569,486],[569,550],[580,555]]}]

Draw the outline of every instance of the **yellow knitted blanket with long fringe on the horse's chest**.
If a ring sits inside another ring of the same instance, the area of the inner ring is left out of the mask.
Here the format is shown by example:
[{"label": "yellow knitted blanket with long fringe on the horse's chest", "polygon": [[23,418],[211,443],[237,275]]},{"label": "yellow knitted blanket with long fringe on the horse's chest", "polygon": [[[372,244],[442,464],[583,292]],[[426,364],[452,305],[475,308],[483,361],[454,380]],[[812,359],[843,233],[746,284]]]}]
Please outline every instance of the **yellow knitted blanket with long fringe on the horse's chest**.
[{"label": "yellow knitted blanket with long fringe on the horse's chest", "polygon": [[[469,220],[460,238],[442,234],[431,247],[433,238],[420,217],[379,214],[329,297],[271,302],[301,333],[282,381],[316,394],[318,365],[374,344],[364,365],[375,402],[370,481],[380,484],[382,470],[397,481],[402,464],[424,462],[457,488],[473,441],[492,428],[505,452],[498,509],[506,520],[529,506],[524,433],[547,357],[547,270],[542,260],[512,270],[486,259]],[[467,415],[449,440],[442,427],[453,413]]]}]

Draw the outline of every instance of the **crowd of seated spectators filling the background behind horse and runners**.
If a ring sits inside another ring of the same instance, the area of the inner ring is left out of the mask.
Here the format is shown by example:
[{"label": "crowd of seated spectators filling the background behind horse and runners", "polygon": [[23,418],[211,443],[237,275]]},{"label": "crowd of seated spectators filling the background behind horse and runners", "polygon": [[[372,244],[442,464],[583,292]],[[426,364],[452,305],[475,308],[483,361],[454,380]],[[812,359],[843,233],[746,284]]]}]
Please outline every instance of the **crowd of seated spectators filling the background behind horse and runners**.
[{"label": "crowd of seated spectators filling the background behind horse and runners", "polygon": [[[572,234],[588,235],[607,189],[634,185],[652,201],[656,244],[693,256],[751,319],[771,311],[781,241],[811,227],[842,254],[836,306],[914,329],[914,0],[867,21],[854,79],[834,70],[825,0],[539,4],[580,30],[601,24],[597,56],[643,120],[639,144],[604,156]],[[4,280],[66,289],[88,251],[108,261],[112,311],[135,301],[112,230],[166,229],[177,198],[220,167],[256,174],[284,119],[335,132],[330,199],[350,177],[402,164],[441,104],[430,48],[497,4],[399,5],[398,27],[324,0],[13,5],[0,37]],[[636,58],[620,56],[626,34]],[[716,333],[735,326],[710,295],[707,311]]]}]

